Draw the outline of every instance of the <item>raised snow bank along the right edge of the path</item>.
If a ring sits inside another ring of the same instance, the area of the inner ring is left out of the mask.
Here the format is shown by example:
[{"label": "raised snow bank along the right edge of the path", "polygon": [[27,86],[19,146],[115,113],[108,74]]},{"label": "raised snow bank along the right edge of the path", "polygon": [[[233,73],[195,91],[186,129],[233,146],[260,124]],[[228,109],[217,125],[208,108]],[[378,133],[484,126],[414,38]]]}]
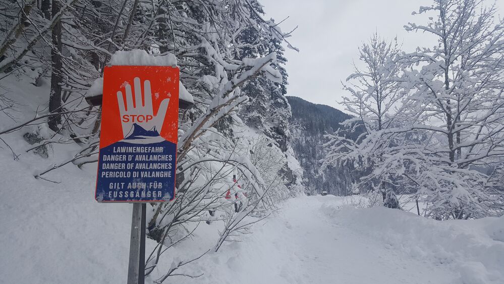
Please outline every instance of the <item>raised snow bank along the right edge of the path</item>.
[{"label": "raised snow bank along the right edge of the path", "polygon": [[504,217],[436,221],[383,207],[323,206],[321,211],[390,249],[451,266],[461,283],[504,283]]}]

